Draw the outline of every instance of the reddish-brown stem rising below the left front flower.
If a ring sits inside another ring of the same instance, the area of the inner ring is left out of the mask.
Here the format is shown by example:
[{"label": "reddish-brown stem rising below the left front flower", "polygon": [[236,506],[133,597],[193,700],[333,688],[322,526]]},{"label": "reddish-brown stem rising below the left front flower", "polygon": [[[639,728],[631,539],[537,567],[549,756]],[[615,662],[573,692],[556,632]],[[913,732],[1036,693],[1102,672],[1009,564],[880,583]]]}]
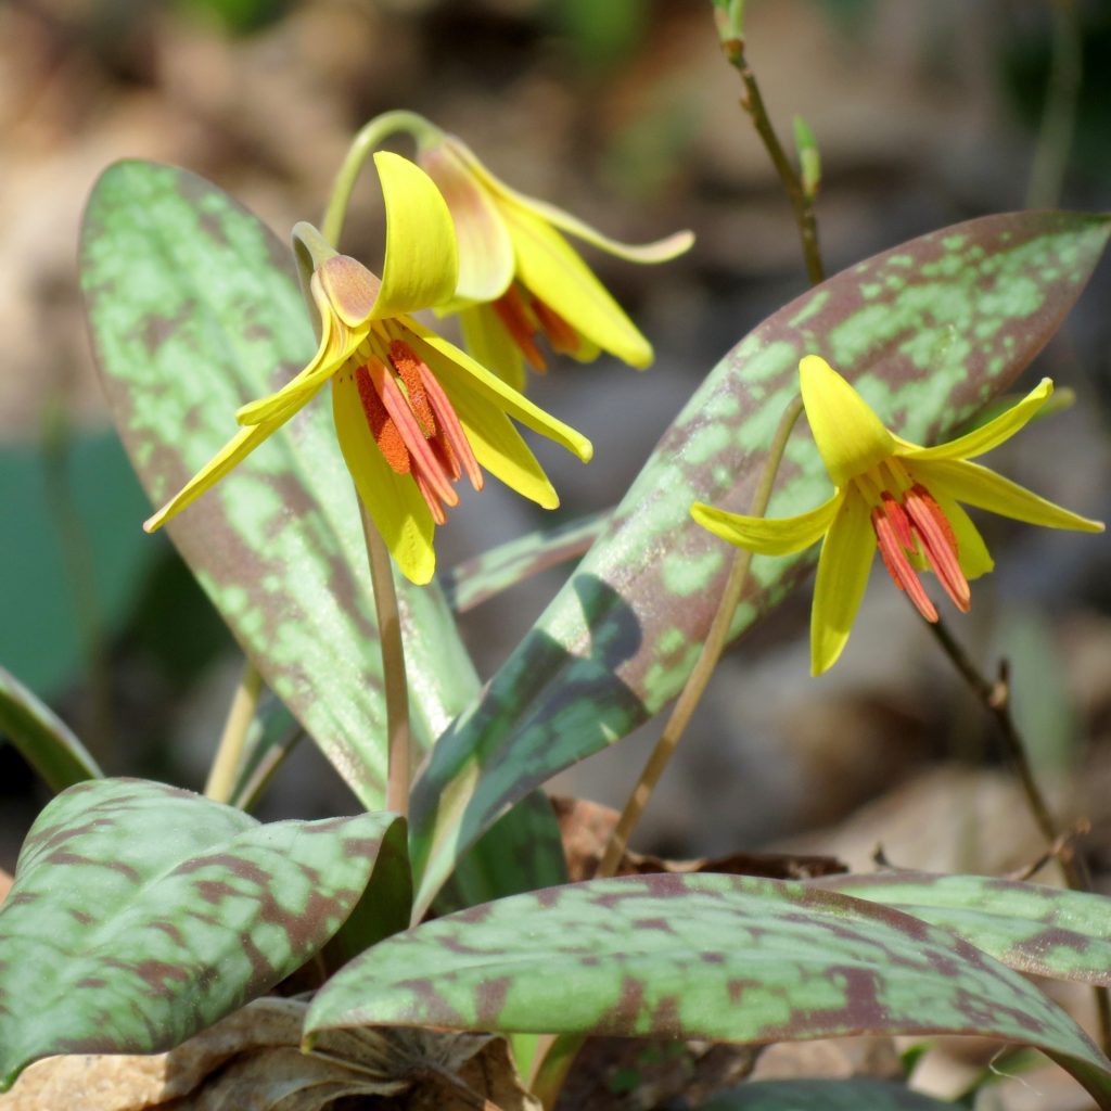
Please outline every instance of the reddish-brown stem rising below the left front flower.
[{"label": "reddish-brown stem rising below the left front flower", "polygon": [[[359,498],[358,493],[356,494]],[[378,638],[382,648],[382,684],[386,689],[387,783],[386,809],[404,817],[409,812],[409,683],[401,643],[401,614],[393,587],[390,553],[359,498],[359,516],[367,542],[367,561],[374,590]]]}]

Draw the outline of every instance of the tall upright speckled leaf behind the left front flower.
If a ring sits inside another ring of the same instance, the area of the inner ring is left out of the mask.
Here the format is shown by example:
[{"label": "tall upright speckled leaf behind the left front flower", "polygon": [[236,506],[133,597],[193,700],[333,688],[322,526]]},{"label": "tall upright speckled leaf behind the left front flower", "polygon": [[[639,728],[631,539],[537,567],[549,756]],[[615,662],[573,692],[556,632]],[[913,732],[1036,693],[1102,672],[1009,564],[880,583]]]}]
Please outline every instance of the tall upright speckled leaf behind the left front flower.
[{"label": "tall upright speckled leaf behind the left front flower", "polygon": [[[238,430],[241,404],[316,349],[289,249],[172,167],[104,171],[84,216],[81,282],[117,426],[156,504]],[[307,406],[169,531],[267,684],[363,804],[380,807],[381,659],[330,406]],[[428,745],[478,680],[436,588],[400,587],[417,740]]]}]

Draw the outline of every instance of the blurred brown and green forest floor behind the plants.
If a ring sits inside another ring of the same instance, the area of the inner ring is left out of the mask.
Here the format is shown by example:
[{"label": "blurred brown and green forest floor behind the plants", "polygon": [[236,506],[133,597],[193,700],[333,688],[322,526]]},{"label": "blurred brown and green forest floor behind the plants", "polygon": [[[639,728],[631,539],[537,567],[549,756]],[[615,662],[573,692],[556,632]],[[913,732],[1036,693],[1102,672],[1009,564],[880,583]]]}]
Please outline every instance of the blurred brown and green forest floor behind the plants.
[{"label": "blurred brown and green forest floor behind the plants", "polygon": [[[1105,0],[750,0],[747,32],[784,141],[794,113],[818,136],[829,272],[987,212],[1111,207]],[[790,207],[739,92],[708,0],[0,3],[0,663],[109,773],[194,789],[239,675],[229,633],[172,548],[140,529],[148,507],[89,353],[74,250],[107,164],[188,167],[284,237],[319,217],[353,130],[403,107],[611,234],[692,228],[694,249],[662,268],[587,252],[658,359],[643,374],[603,359],[533,380],[537,400],[601,449],[589,470],[542,454],[569,520],[613,504],[718,359],[805,289]],[[372,269],[378,204],[368,180],[344,243]],[[1072,387],[1079,403],[998,459],[1101,518],[1109,269],[1029,372]],[[441,565],[543,523],[488,489],[441,530]],[[1095,822],[1094,861],[1111,864],[1108,543],[999,519],[987,532],[1007,558],[959,632],[989,670],[1001,653],[1012,661],[1039,765],[1061,805]],[[561,579],[541,575],[467,617],[483,675]],[[897,592],[877,577],[849,651],[820,681],[809,678],[808,609],[800,593],[723,662],[640,847],[792,843],[862,865],[882,841],[898,863],[985,871],[1035,859],[980,709]],[[658,729],[557,787],[619,805]],[[354,809],[311,745],[293,767],[268,817]],[[44,801],[0,745],[0,867],[11,870]]]}]

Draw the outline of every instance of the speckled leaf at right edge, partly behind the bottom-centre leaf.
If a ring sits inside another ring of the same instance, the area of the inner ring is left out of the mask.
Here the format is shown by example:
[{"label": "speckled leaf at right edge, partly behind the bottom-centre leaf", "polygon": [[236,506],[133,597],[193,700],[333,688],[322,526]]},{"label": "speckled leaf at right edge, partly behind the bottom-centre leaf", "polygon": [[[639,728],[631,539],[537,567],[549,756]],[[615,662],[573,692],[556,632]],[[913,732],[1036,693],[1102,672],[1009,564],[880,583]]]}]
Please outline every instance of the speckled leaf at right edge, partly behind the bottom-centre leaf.
[{"label": "speckled leaf at right edge, partly behind the bottom-centre leaf", "polygon": [[878,872],[811,880],[944,927],[1031,975],[1111,987],[1111,899],[988,875]]}]

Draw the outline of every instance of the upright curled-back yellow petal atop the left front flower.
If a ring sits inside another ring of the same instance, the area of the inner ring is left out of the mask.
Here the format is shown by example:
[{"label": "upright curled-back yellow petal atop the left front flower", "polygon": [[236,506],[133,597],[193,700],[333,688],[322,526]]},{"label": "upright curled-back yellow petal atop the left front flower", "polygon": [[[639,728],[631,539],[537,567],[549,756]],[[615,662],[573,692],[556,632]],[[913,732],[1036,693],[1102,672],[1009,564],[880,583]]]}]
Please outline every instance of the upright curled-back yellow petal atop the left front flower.
[{"label": "upright curled-back yellow petal atop the left front flower", "polygon": [[450,300],[459,257],[451,213],[436,182],[416,162],[389,151],[378,151],[374,166],[386,202],[386,261],[373,310],[382,320]]}]

